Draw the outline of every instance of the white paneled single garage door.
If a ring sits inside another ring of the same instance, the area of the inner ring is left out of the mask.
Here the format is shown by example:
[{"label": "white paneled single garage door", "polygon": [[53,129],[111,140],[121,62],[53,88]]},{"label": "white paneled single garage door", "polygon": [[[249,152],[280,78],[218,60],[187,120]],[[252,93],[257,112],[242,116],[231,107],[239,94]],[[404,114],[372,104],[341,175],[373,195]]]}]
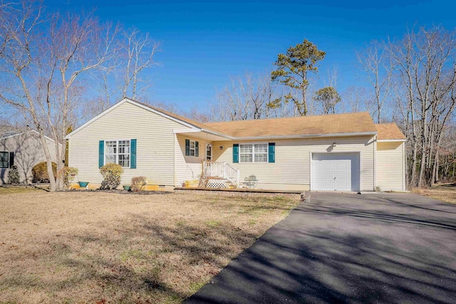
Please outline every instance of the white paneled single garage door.
[{"label": "white paneled single garage door", "polygon": [[359,191],[359,153],[313,153],[311,190]]}]

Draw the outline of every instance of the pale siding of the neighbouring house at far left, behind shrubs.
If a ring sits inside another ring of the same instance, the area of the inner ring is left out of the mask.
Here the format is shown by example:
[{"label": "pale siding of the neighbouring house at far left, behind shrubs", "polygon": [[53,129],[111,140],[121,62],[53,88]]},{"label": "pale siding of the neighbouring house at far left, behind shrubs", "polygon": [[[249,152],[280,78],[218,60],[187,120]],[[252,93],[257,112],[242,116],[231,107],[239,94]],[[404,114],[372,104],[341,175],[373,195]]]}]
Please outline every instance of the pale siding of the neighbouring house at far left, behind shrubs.
[{"label": "pale siding of the neighbouring house at far left, behind shrubs", "polygon": [[[41,140],[32,132],[25,132],[21,135],[0,140],[0,151],[14,152],[14,164],[19,170],[21,183],[30,184],[33,179],[31,169],[38,162],[46,162]],[[52,140],[46,139],[51,161],[56,162],[56,145]],[[0,184],[8,181],[9,169],[0,169]]]}]

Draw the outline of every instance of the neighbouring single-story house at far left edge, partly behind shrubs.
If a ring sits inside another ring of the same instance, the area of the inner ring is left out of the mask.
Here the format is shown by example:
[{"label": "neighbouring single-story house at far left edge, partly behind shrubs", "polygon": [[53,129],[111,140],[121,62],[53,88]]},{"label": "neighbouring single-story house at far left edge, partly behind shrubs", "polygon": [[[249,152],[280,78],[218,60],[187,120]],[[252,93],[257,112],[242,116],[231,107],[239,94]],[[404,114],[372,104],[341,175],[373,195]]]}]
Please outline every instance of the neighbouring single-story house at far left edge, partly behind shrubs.
[{"label": "neighbouring single-story house at far left edge, partly behind shrubs", "polygon": [[[9,183],[8,173],[12,165],[19,170],[19,180],[30,184],[33,176],[31,169],[39,162],[46,162],[41,140],[35,130],[0,130],[0,184]],[[54,140],[46,137],[51,160],[56,162],[56,145]]]}]

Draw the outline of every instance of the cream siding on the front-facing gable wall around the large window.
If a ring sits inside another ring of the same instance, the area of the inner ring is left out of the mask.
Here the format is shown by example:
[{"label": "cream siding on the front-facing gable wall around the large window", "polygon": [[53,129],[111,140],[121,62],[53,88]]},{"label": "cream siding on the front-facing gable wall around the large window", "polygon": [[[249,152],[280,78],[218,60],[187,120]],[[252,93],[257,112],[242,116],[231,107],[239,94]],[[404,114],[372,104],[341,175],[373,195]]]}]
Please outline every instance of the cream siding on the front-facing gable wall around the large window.
[{"label": "cream siding on the front-facing gable wall around the large window", "polygon": [[[174,185],[175,134],[184,125],[166,117],[123,103],[90,123],[69,140],[69,164],[79,169],[77,180],[100,184],[98,168],[100,140],[137,140],[136,169],[124,168],[122,184],[145,176],[150,184]],[[190,129],[190,128],[189,128]]]}]

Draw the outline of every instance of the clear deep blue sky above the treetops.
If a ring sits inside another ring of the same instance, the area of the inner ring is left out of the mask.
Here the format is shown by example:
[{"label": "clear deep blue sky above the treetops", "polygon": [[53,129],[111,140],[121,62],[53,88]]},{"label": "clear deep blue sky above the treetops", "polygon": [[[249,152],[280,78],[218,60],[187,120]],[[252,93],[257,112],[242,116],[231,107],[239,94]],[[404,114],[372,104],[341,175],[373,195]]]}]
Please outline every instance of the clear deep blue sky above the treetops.
[{"label": "clear deep blue sky above the treetops", "polygon": [[[272,67],[278,53],[304,38],[326,51],[321,82],[338,68],[340,92],[359,85],[356,51],[400,37],[407,26],[455,28],[455,1],[88,1],[44,0],[51,9],[96,8],[162,43],[150,70],[150,100],[204,110],[230,76]],[[310,4],[309,4],[310,3]]]}]

